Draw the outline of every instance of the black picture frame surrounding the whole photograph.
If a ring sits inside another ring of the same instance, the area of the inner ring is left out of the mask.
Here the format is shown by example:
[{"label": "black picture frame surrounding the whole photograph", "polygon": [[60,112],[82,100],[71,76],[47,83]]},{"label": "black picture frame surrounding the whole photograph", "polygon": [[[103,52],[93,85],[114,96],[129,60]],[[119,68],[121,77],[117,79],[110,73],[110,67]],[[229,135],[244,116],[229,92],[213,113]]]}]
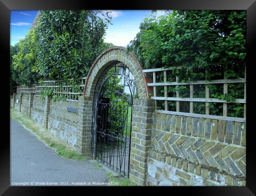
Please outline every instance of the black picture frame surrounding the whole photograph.
[{"label": "black picture frame surrounding the whole photograph", "polygon": [[[93,3],[93,4],[92,4]],[[175,194],[175,191],[184,193],[186,190],[189,195],[255,195],[256,194],[256,169],[255,167],[255,125],[254,125],[254,47],[256,40],[256,2],[255,0],[130,0],[124,3],[110,1],[104,2],[87,2],[83,0],[0,0],[0,51],[2,61],[7,59],[6,63],[2,63],[2,68],[6,69],[2,71],[2,76],[6,76],[6,79],[2,79],[2,105],[6,105],[6,111],[9,111],[9,88],[8,88],[8,74],[9,67],[9,44],[10,44],[10,10],[35,10],[35,9],[234,9],[234,10],[247,10],[247,186],[246,187],[167,187],[163,192],[163,187],[128,187],[125,192],[119,192],[119,194],[133,194],[138,189],[142,188],[143,191],[151,191],[156,189],[160,194]],[[9,113],[5,114],[5,110],[2,112],[2,124],[9,121]],[[4,127],[4,125],[2,126]],[[9,124],[7,128],[2,128],[2,140],[1,140],[1,156],[0,156],[0,194],[3,195],[51,195],[53,194],[53,187],[12,187],[10,186],[10,136],[9,136]],[[5,133],[5,136],[4,134]],[[58,187],[54,187],[58,188]],[[61,187],[66,190],[67,187]],[[76,187],[78,188],[78,187]],[[79,187],[84,188],[84,187]],[[87,191],[96,187],[85,187]],[[104,187],[103,187],[104,188]],[[106,187],[108,188],[108,187]],[[166,187],[165,187],[166,188]],[[97,188],[96,188],[97,189]],[[137,190],[135,190],[137,189]],[[111,189],[113,191],[113,187]],[[167,192],[166,192],[167,191]],[[84,192],[83,195],[85,195]],[[78,192],[76,194],[79,194]],[[88,192],[89,194],[89,192]]]}]

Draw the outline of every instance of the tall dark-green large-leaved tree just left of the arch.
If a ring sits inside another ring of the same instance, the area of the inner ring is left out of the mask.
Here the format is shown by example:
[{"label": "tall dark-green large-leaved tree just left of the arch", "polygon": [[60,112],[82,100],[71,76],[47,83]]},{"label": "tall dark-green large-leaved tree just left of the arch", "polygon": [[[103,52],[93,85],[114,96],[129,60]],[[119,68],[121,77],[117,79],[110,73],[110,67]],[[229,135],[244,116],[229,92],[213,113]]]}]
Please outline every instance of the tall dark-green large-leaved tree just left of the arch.
[{"label": "tall dark-green large-leaved tree just left of the arch", "polygon": [[43,10],[37,27],[37,70],[45,78],[80,78],[108,44],[104,44],[111,17],[97,10]]}]

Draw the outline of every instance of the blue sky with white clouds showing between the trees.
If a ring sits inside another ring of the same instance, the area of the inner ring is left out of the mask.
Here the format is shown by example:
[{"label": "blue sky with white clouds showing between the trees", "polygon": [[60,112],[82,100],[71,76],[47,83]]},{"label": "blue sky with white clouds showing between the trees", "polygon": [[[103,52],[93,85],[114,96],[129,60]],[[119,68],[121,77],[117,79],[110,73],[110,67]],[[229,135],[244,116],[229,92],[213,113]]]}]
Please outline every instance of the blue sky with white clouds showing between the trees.
[{"label": "blue sky with white clouds showing between the trees", "polygon": [[[105,42],[117,46],[126,46],[139,32],[139,24],[151,15],[151,10],[111,10],[111,23],[106,31]],[[37,10],[12,10],[10,13],[10,44],[15,45],[28,33]],[[158,11],[157,15],[163,15]]]}]

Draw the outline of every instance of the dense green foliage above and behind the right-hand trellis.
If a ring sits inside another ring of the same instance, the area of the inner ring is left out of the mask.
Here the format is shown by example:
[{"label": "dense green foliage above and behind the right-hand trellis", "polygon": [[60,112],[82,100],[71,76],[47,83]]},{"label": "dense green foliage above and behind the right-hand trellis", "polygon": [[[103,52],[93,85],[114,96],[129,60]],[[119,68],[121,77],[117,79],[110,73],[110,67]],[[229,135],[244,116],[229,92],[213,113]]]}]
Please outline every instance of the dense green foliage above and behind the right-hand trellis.
[{"label": "dense green foliage above and behind the right-hand trellis", "polygon": [[[168,82],[243,78],[246,57],[246,11],[223,10],[174,10],[158,18],[145,18],[141,31],[128,45],[128,51],[135,51],[144,67],[148,69],[181,65],[183,69],[173,69]],[[226,66],[221,64],[227,63]],[[187,68],[185,68],[187,67]],[[193,69],[193,71],[192,71]],[[206,72],[207,71],[207,72]],[[163,82],[163,74],[158,75]],[[243,98],[243,84],[228,84],[228,93],[223,93],[223,85],[198,85],[194,97],[205,97],[205,86],[210,89],[210,97],[229,102]],[[168,86],[169,96],[189,97],[186,85]],[[163,96],[163,87],[158,87]],[[184,112],[189,112],[189,103]],[[176,109],[175,102],[169,102]],[[162,105],[159,106],[163,107]],[[195,103],[195,111],[204,113],[205,104]],[[212,103],[210,113],[222,115],[223,105]],[[241,104],[228,104],[230,116],[242,117]]]}]

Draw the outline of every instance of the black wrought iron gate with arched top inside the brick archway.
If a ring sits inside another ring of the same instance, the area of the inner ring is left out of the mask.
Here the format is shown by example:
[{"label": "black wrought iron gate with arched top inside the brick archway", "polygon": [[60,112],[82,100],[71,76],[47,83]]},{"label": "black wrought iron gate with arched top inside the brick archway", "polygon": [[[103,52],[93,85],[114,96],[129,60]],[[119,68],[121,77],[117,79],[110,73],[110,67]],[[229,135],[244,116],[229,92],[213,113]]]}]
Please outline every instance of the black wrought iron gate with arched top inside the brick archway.
[{"label": "black wrought iron gate with arched top inside the brick archway", "polygon": [[124,176],[129,176],[134,81],[125,64],[115,63],[100,77],[93,99],[91,155]]}]

